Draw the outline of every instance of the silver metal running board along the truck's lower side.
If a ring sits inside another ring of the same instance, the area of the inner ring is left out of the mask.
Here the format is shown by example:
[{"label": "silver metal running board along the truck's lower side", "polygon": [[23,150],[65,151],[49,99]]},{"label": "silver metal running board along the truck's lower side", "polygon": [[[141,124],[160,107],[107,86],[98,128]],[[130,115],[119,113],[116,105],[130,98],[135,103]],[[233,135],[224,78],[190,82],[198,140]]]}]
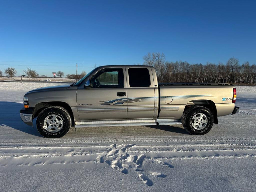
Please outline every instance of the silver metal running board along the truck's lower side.
[{"label": "silver metal running board along the truck's lower side", "polygon": [[114,126],[152,126],[152,125],[177,125],[180,120],[174,119],[136,119],[136,120],[94,120],[75,122],[76,128],[83,127],[114,127]]}]

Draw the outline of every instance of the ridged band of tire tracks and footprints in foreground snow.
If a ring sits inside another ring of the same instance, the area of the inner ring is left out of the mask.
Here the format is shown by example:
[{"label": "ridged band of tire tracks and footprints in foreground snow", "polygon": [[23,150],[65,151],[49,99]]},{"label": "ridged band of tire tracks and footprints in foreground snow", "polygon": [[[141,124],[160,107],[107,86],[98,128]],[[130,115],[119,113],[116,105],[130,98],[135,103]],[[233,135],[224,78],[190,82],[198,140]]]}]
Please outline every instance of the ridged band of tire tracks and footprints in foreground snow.
[{"label": "ridged band of tire tracks and footprints in foreground snow", "polygon": [[0,147],[0,168],[8,166],[47,166],[85,163],[103,164],[120,174],[135,172],[145,185],[153,186],[154,177],[164,179],[164,173],[145,172],[144,163],[175,168],[172,159],[191,158],[243,158],[256,157],[254,144],[176,144],[176,145],[135,145],[79,147]]}]

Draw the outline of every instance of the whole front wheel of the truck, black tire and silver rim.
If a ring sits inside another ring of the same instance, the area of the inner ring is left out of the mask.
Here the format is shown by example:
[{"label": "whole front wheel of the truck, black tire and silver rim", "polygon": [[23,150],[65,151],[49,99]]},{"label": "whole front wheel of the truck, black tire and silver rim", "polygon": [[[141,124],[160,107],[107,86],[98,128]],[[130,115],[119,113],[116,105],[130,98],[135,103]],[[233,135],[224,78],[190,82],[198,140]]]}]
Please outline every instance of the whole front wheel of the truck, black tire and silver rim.
[{"label": "whole front wheel of the truck, black tire and silver rim", "polygon": [[44,109],[38,115],[36,126],[42,136],[60,138],[68,133],[72,126],[72,120],[66,109],[52,106]]}]

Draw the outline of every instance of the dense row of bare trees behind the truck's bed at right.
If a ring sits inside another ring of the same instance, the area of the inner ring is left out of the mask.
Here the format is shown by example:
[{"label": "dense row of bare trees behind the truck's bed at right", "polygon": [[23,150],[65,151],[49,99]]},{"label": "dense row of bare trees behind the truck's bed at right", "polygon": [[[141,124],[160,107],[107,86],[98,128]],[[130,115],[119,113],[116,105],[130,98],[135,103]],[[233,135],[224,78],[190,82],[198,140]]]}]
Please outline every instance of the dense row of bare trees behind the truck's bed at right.
[{"label": "dense row of bare trees behind the truck's bed at right", "polygon": [[225,64],[207,62],[206,65],[165,61],[163,53],[148,53],[143,59],[143,65],[155,67],[158,81],[162,83],[221,83],[225,79],[227,83],[232,84],[256,84],[256,65],[250,65],[248,61],[241,65],[234,57]]}]

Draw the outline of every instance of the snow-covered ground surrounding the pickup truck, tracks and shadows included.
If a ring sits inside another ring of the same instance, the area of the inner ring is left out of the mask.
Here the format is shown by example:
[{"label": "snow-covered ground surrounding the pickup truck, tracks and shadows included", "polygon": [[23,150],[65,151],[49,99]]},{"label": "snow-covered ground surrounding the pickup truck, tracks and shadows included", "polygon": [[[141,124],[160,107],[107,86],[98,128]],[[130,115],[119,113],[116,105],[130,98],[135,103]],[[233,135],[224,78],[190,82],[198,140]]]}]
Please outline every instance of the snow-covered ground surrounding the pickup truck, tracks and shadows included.
[{"label": "snow-covered ground surrounding the pickup truck, tracks and shadows included", "polygon": [[240,112],[204,136],[89,127],[53,140],[19,117],[27,91],[52,85],[0,82],[0,191],[255,191],[256,87],[237,87]]}]

